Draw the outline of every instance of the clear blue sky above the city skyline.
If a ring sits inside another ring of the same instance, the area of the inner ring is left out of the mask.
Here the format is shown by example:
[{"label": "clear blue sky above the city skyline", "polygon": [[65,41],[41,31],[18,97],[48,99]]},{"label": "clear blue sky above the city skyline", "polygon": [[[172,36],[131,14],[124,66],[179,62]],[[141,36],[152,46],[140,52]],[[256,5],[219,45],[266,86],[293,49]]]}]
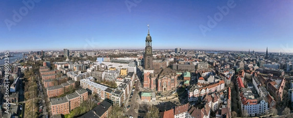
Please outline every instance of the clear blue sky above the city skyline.
[{"label": "clear blue sky above the city skyline", "polygon": [[[126,2],[134,6],[128,9]],[[269,52],[286,52],[293,47],[293,0],[235,0],[235,7],[228,7],[229,13],[204,35],[199,26],[209,27],[208,16],[214,19],[220,12],[217,6],[227,2],[41,0],[29,9],[22,0],[1,0],[0,52],[143,49],[147,24],[154,49],[265,51],[268,47]],[[19,14],[20,9],[22,19],[15,21],[13,11]]]}]

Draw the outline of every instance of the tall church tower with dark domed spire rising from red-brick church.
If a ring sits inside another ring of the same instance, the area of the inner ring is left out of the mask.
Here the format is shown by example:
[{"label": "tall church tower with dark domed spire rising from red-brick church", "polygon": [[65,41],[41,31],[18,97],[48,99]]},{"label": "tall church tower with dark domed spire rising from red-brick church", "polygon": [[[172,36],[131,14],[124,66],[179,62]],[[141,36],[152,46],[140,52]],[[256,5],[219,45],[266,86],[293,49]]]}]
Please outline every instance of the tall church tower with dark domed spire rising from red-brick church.
[{"label": "tall church tower with dark domed spire rising from red-brick church", "polygon": [[152,66],[152,47],[151,47],[151,37],[149,35],[149,25],[148,26],[148,32],[146,36],[146,48],[145,48],[145,54],[144,54],[144,87],[149,88],[150,85],[150,79],[148,78],[149,74],[154,73],[154,69]]}]

